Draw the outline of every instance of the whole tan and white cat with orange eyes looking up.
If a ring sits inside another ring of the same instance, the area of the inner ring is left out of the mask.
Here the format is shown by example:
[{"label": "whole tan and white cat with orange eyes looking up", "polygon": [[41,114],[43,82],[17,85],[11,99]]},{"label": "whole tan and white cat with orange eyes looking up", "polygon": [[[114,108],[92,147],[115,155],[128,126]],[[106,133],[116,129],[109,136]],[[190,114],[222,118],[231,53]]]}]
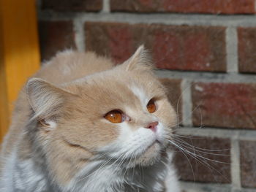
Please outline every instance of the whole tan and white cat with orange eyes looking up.
[{"label": "whole tan and white cat with orange eyes looking up", "polygon": [[44,64],[16,101],[0,191],[179,192],[176,112],[149,58],[68,50]]}]

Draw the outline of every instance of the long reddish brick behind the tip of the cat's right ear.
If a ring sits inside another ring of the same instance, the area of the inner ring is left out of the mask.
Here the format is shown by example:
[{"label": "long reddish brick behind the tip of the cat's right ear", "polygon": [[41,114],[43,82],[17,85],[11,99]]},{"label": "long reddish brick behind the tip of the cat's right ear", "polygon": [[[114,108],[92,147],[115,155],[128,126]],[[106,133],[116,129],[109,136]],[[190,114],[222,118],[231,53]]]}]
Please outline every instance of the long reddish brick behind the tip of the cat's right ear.
[{"label": "long reddish brick behind the tip of the cat's right ear", "polygon": [[85,30],[86,48],[117,63],[144,44],[161,69],[226,71],[224,27],[86,23]]}]

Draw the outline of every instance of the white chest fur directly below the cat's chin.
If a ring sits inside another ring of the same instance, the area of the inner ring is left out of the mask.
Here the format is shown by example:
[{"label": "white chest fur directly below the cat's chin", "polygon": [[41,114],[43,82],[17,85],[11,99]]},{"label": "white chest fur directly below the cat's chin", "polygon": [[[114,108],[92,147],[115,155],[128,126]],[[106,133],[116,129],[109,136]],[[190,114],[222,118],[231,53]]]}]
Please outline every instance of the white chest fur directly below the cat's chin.
[{"label": "white chest fur directly below the cat's chin", "polygon": [[116,164],[94,162],[86,166],[64,191],[179,192],[175,169],[170,161],[154,166],[124,169]]}]

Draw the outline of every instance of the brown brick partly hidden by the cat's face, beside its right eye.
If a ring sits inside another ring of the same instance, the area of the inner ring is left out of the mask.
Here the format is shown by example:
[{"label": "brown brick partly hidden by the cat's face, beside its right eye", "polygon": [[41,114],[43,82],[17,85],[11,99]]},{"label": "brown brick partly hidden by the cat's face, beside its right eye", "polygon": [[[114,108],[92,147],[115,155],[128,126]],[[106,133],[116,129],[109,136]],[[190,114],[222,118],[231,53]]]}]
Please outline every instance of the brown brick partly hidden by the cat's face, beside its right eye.
[{"label": "brown brick partly hidden by the cat's face, beside its right eye", "polygon": [[178,122],[182,122],[181,80],[169,78],[159,78],[159,80],[165,86],[170,104],[178,114]]}]

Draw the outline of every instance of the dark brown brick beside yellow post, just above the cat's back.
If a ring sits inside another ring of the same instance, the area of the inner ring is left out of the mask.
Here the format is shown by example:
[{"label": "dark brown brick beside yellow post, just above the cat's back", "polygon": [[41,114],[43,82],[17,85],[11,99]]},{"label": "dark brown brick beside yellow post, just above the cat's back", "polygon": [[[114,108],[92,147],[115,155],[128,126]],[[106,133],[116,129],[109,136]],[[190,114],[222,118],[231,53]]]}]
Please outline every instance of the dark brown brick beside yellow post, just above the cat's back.
[{"label": "dark brown brick beside yellow post, just above the cat's back", "polygon": [[58,51],[75,48],[75,34],[71,21],[39,21],[39,40],[42,60]]}]

